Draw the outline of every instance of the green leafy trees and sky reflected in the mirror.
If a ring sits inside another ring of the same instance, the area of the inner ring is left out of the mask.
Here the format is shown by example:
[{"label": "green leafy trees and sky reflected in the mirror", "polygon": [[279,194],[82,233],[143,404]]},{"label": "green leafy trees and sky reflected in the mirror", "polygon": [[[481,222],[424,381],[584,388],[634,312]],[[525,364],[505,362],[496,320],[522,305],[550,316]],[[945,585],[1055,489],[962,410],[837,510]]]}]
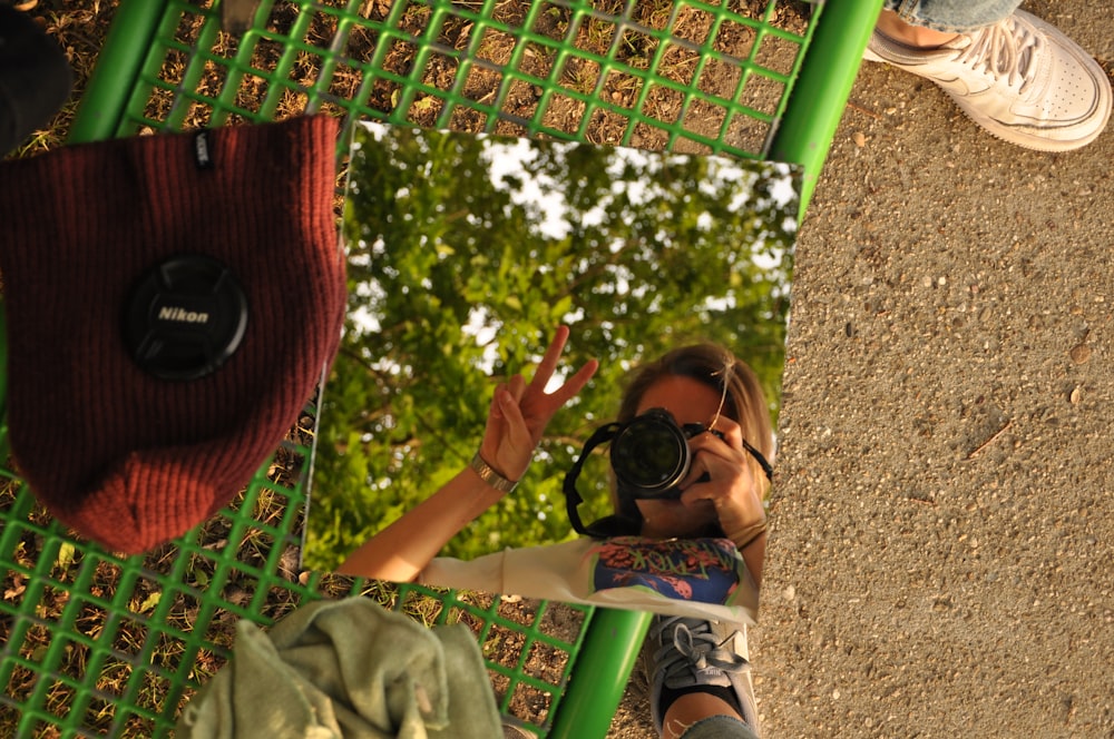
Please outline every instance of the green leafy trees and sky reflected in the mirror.
[{"label": "green leafy trees and sky reflected in the mirror", "polygon": [[[668,349],[729,347],[775,427],[799,181],[782,164],[358,126],[348,318],[319,410],[303,564],[343,569],[466,469],[495,387],[528,381],[561,325],[554,384],[589,358],[598,371],[517,489],[437,542],[439,558],[578,540],[565,474],[615,418],[632,368]],[[577,482],[585,522],[613,512],[604,449]],[[609,604],[625,604],[622,589]]]}]

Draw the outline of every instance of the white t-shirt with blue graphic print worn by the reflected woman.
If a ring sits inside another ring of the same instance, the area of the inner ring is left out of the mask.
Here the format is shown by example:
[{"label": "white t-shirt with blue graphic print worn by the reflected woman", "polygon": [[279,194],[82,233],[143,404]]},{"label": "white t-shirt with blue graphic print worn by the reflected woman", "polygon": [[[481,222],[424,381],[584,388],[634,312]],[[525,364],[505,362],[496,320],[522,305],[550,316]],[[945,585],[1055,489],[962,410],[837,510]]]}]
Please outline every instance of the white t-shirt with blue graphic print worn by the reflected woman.
[{"label": "white t-shirt with blue graphic print worn by the reflected woman", "polygon": [[727,539],[577,539],[467,561],[439,556],[419,581],[735,623],[758,617],[758,588]]}]

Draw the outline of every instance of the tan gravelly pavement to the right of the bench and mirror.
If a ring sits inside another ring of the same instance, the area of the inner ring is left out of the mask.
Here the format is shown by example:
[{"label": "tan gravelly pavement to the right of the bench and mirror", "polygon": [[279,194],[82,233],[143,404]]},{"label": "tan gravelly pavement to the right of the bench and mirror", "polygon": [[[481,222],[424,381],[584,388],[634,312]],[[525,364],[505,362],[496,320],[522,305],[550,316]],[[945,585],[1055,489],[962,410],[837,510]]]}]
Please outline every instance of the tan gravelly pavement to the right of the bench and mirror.
[{"label": "tan gravelly pavement to the right of the bench and mirror", "polygon": [[[1104,65],[1114,7],[1025,6]],[[860,72],[802,228],[751,632],[768,737],[1114,737],[1114,130]]]}]

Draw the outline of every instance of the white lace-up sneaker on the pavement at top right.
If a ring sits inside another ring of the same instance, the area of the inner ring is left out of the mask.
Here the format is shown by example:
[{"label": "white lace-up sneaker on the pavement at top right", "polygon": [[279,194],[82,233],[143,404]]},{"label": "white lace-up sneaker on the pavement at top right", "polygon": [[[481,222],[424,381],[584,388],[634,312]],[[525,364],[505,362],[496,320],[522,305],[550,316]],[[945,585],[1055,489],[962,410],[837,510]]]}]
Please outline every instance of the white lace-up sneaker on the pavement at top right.
[{"label": "white lace-up sneaker on the pavement at top right", "polygon": [[863,58],[932,80],[975,122],[1029,149],[1077,149],[1102,134],[1111,115],[1102,67],[1023,10],[930,50],[874,31]]}]

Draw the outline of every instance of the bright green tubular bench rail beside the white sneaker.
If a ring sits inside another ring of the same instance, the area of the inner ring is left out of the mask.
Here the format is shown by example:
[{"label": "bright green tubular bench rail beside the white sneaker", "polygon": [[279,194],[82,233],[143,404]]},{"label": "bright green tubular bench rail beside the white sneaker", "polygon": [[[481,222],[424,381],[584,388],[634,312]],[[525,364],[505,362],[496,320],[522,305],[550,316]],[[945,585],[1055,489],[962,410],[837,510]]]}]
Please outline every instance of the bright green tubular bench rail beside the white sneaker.
[{"label": "bright green tubular bench rail beside the white sneaker", "polygon": [[878,21],[882,0],[827,0],[817,12],[812,42],[785,115],[770,144],[768,159],[804,166],[800,217],[815,189],[828,149],[836,138],[862,61],[862,52]]}]

